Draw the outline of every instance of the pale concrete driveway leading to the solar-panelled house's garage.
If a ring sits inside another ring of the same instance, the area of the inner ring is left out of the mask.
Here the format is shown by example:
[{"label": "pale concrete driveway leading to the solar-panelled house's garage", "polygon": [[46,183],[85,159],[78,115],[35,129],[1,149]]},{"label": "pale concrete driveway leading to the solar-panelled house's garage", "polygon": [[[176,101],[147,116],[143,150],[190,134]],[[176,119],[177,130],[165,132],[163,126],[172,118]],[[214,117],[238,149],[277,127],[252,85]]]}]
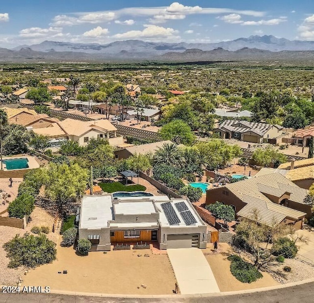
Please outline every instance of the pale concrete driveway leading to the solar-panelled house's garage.
[{"label": "pale concrete driveway leading to the solar-panelled house's garage", "polygon": [[167,249],[167,253],[183,295],[220,292],[202,250]]}]

